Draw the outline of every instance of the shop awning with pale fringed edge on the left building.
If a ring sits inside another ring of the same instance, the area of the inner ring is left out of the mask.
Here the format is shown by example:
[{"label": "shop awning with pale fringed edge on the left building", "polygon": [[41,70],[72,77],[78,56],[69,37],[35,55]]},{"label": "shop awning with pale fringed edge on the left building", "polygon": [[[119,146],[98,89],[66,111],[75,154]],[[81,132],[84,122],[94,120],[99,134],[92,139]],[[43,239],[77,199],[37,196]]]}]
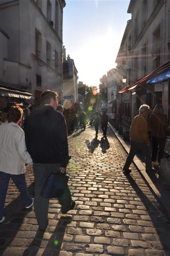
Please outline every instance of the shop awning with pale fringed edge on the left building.
[{"label": "shop awning with pale fringed edge on the left building", "polygon": [[4,87],[0,87],[0,96],[3,97],[14,97],[20,99],[31,99],[31,93],[20,92],[19,90],[9,90]]}]

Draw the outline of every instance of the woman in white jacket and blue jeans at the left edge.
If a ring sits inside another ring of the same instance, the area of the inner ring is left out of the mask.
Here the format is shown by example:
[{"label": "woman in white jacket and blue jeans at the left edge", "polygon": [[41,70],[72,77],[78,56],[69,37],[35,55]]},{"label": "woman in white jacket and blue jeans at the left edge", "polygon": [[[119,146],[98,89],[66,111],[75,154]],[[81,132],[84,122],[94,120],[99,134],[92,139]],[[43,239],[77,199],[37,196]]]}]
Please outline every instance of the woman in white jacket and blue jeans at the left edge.
[{"label": "woman in white jacket and blue jeans at the left edge", "polygon": [[3,208],[10,178],[20,191],[24,206],[30,208],[34,204],[25,179],[25,163],[32,164],[32,159],[26,150],[24,131],[19,126],[22,116],[23,110],[13,106],[7,112],[6,122],[0,124],[0,223],[5,220]]}]

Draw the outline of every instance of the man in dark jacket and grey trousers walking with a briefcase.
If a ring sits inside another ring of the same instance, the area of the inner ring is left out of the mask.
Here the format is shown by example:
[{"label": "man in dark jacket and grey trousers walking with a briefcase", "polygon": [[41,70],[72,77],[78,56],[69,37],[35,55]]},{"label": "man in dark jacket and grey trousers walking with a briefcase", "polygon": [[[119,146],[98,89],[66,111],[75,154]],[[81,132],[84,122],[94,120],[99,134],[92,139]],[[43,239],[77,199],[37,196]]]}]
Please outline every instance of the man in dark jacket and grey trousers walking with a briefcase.
[{"label": "man in dark jacket and grey trousers walking with a briefcase", "polygon": [[[67,128],[64,116],[56,111],[57,93],[47,90],[41,93],[40,108],[35,109],[27,120],[26,146],[33,160],[35,176],[35,215],[40,231],[48,226],[49,199],[40,192],[50,172],[66,173],[69,162]],[[69,187],[61,198],[61,212],[66,213],[75,206]]]}]

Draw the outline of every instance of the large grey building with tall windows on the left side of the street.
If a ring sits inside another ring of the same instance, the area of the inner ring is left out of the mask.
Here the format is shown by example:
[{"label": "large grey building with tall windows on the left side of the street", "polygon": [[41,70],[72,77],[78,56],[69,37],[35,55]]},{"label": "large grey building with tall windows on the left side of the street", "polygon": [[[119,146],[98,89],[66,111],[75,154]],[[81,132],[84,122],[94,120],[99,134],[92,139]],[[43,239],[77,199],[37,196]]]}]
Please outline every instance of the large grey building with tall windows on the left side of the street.
[{"label": "large grey building with tall windows on the left side of the street", "polygon": [[0,26],[10,38],[0,79],[28,90],[35,100],[47,88],[62,96],[65,5],[64,0],[0,1]]}]

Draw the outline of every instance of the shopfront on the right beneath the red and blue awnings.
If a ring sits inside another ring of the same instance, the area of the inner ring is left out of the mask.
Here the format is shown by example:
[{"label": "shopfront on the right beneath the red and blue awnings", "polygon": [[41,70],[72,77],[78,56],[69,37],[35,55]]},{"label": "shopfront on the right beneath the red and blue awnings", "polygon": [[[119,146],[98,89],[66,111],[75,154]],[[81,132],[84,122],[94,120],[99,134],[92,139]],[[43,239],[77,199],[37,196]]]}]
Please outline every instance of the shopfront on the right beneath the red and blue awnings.
[{"label": "shopfront on the right beneath the red and blue awnings", "polygon": [[[139,79],[133,84],[124,87],[118,94],[130,93],[133,96],[130,99],[130,105],[132,104],[133,112],[132,118],[138,114],[140,105],[147,104],[150,108],[154,108],[156,104],[163,105],[164,113],[168,116],[170,124],[170,61],[158,67],[147,76]],[[122,96],[119,96],[119,98]],[[118,100],[117,100],[118,102]],[[121,102],[122,103],[122,102]],[[123,106],[122,106],[123,108]],[[124,108],[126,109],[127,106]],[[123,116],[123,110],[121,111],[121,118]]]}]

